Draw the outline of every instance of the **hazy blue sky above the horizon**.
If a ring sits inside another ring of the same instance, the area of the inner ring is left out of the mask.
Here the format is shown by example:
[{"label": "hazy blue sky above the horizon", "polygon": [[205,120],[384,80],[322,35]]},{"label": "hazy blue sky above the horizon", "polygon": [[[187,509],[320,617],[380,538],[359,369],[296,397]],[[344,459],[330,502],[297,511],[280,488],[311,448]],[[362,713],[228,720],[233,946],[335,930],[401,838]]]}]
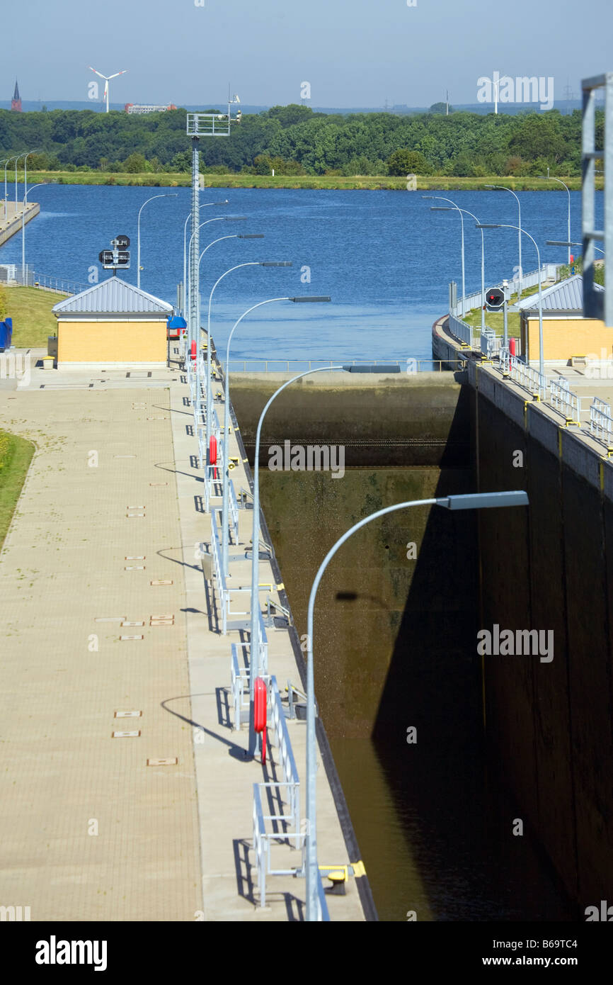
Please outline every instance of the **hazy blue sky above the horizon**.
[{"label": "hazy blue sky above the horizon", "polygon": [[494,70],[570,82],[613,69],[611,0],[21,0],[3,4],[0,92],[87,99],[93,65],[111,101],[204,104],[231,82],[245,103],[430,105],[476,101]]}]

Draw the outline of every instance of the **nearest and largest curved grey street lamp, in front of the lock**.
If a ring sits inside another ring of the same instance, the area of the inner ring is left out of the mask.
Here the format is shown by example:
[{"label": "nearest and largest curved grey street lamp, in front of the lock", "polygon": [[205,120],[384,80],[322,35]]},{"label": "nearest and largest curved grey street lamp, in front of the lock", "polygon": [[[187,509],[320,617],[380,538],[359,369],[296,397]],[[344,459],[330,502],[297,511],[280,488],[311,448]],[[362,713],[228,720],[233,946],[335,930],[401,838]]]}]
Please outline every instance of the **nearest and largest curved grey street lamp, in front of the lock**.
[{"label": "nearest and largest curved grey street lamp, in front of the lock", "polygon": [[337,543],[331,548],[320,564],[319,570],[315,575],[313,587],[311,588],[307,613],[306,919],[308,921],[316,921],[318,919],[318,882],[320,878],[317,867],[317,803],[315,783],[317,743],[315,737],[315,685],[313,672],[313,610],[315,607],[315,596],[324,571],[336,555],[338,548],[352,534],[361,527],[364,527],[367,523],[370,523],[371,520],[385,516],[386,513],[392,513],[398,509],[406,509],[408,506],[444,506],[446,509],[484,509],[491,506],[525,506],[527,503],[527,493],[523,492],[472,493],[469,495],[450,495],[436,499],[413,499],[409,502],[397,502],[392,506],[386,506],[384,509],[377,510],[376,513],[371,513],[370,516],[366,516],[363,520],[354,524],[337,540]]}]

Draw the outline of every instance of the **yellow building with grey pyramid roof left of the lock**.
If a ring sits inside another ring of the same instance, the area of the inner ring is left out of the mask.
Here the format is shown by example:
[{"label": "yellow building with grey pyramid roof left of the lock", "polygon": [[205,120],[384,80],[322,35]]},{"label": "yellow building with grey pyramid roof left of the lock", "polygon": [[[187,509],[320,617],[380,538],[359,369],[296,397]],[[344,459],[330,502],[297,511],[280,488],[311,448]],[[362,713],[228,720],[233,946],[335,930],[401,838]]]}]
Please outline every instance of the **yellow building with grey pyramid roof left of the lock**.
[{"label": "yellow building with grey pyramid roof left of the lock", "polygon": [[110,277],[53,306],[58,369],[153,369],[167,361],[172,305]]}]

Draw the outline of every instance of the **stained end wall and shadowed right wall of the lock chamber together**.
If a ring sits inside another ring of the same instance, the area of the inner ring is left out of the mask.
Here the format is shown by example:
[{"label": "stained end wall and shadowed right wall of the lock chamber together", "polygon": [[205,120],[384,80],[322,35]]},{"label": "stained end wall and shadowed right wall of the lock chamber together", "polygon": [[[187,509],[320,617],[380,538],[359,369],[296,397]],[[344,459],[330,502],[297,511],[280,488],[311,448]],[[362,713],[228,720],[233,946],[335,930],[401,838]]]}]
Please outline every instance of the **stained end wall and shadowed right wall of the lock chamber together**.
[{"label": "stained end wall and shadowed right wall of the lock chamber together", "polygon": [[[527,491],[529,510],[411,509],[354,535],[318,593],[317,696],[333,741],[402,743],[408,726],[428,735],[425,784],[437,755],[456,755],[469,786],[461,724],[480,732],[484,711],[492,768],[582,913],[613,884],[613,503],[597,456],[588,461],[570,430],[475,372],[465,386],[448,373],[288,388],[264,428],[262,502],[302,634],[317,567],[361,517],[405,499]],[[231,380],[251,457],[257,416],[279,382]],[[475,392],[486,382],[487,396]],[[270,444],[298,438],[346,441],[344,477],[269,471]],[[552,630],[553,660],[481,657],[477,630],[494,624]]]}]

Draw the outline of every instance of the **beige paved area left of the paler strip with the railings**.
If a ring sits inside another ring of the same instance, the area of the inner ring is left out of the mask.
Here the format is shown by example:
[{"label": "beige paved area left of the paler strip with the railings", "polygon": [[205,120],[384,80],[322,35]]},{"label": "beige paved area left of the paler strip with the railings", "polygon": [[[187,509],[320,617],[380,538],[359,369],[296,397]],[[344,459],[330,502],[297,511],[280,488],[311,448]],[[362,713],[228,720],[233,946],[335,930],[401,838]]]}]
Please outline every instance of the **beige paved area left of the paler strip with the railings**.
[{"label": "beige paved area left of the paler strip with the railings", "polygon": [[202,910],[166,407],[134,385],[0,393],[0,426],[37,444],[0,556],[0,903],[32,920]]}]

